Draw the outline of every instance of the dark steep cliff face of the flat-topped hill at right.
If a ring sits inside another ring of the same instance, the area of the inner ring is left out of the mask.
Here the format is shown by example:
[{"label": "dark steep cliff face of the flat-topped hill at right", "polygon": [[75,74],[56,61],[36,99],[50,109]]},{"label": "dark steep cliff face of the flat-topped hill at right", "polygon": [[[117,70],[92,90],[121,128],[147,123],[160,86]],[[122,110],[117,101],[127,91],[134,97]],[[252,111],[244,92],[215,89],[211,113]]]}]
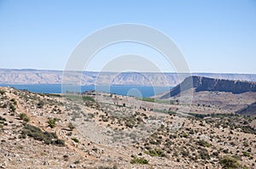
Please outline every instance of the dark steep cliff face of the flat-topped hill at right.
[{"label": "dark steep cliff face of the flat-topped hill at right", "polygon": [[218,91],[227,93],[256,92],[256,82],[230,81],[223,79],[213,79],[201,76],[189,76],[181,84],[173,87],[170,93],[166,93],[160,99],[168,99],[176,96],[181,91],[195,88],[195,92]]}]

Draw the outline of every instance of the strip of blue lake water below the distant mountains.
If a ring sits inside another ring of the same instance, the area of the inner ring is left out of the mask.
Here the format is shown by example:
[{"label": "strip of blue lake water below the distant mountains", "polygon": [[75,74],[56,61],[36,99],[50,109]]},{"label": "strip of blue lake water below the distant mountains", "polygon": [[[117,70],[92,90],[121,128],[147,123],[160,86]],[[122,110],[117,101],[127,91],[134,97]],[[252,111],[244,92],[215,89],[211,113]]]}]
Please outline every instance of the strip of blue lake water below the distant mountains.
[{"label": "strip of blue lake water below the distant mountains", "polygon": [[[16,84],[0,84],[0,87],[15,87],[20,90],[28,90],[33,93],[62,93],[61,84],[35,84],[35,85],[16,85]],[[70,87],[68,87],[70,89]],[[69,91],[85,92],[96,90],[104,93],[116,93],[119,95],[135,96],[135,97],[151,97],[170,90],[172,87],[148,87],[148,86],[73,86]]]}]

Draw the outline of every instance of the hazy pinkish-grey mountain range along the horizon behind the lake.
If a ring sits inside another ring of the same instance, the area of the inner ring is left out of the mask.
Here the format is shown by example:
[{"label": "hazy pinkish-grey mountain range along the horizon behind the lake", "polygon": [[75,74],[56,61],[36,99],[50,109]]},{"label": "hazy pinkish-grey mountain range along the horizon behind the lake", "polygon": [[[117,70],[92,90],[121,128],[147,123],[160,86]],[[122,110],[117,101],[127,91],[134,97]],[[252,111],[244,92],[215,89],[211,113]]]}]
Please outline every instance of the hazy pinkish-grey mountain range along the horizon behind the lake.
[{"label": "hazy pinkish-grey mountain range along the horizon behind the lake", "polygon": [[[142,86],[176,86],[188,76],[177,73],[138,73],[138,72],[91,72],[72,71],[65,74],[65,79],[79,82],[82,85],[113,84],[113,85],[142,85]],[[217,74],[193,73],[193,76],[205,76],[218,79],[256,82],[256,74]],[[0,69],[2,84],[61,84],[61,70],[13,70]],[[66,81],[67,82],[67,81]]]}]

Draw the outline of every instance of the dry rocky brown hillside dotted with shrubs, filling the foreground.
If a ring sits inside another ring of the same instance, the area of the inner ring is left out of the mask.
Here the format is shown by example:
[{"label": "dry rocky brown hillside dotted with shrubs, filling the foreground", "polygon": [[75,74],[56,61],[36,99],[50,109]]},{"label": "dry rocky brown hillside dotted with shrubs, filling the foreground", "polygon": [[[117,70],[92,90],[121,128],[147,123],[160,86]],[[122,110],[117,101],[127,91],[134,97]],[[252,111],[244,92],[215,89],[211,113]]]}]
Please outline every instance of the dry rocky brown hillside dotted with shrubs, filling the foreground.
[{"label": "dry rocky brown hillside dotted with shrubs, filling the foreground", "polygon": [[0,91],[0,168],[256,168],[256,116],[236,113],[253,92],[195,92],[181,105]]}]

